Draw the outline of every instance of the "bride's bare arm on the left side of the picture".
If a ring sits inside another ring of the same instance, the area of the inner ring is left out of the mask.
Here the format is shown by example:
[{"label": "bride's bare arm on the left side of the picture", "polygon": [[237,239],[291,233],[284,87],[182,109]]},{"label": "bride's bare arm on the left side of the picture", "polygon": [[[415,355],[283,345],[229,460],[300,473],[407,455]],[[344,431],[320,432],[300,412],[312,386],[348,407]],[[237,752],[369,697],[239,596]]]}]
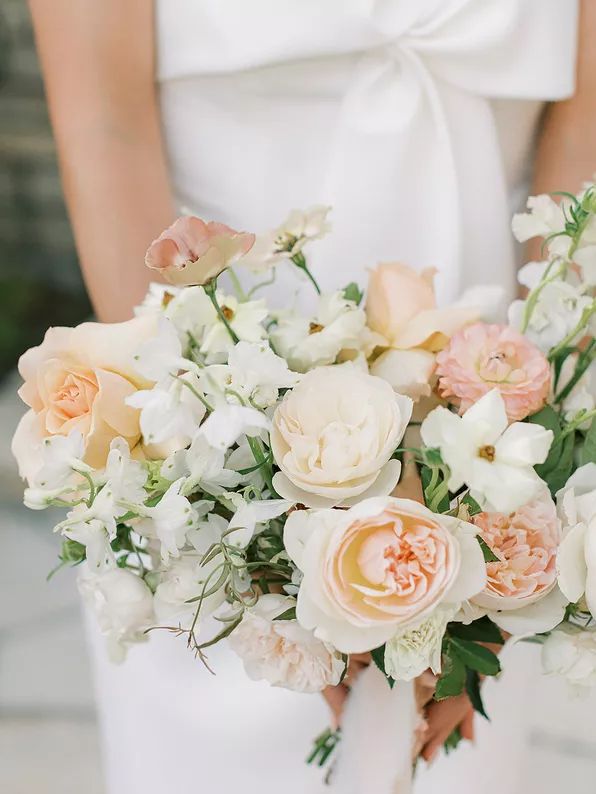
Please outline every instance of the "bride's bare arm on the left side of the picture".
[{"label": "bride's bare arm on the left side of the picture", "polygon": [[30,0],[64,194],[98,317],[144,294],[173,218],[154,87],[153,3]]}]

